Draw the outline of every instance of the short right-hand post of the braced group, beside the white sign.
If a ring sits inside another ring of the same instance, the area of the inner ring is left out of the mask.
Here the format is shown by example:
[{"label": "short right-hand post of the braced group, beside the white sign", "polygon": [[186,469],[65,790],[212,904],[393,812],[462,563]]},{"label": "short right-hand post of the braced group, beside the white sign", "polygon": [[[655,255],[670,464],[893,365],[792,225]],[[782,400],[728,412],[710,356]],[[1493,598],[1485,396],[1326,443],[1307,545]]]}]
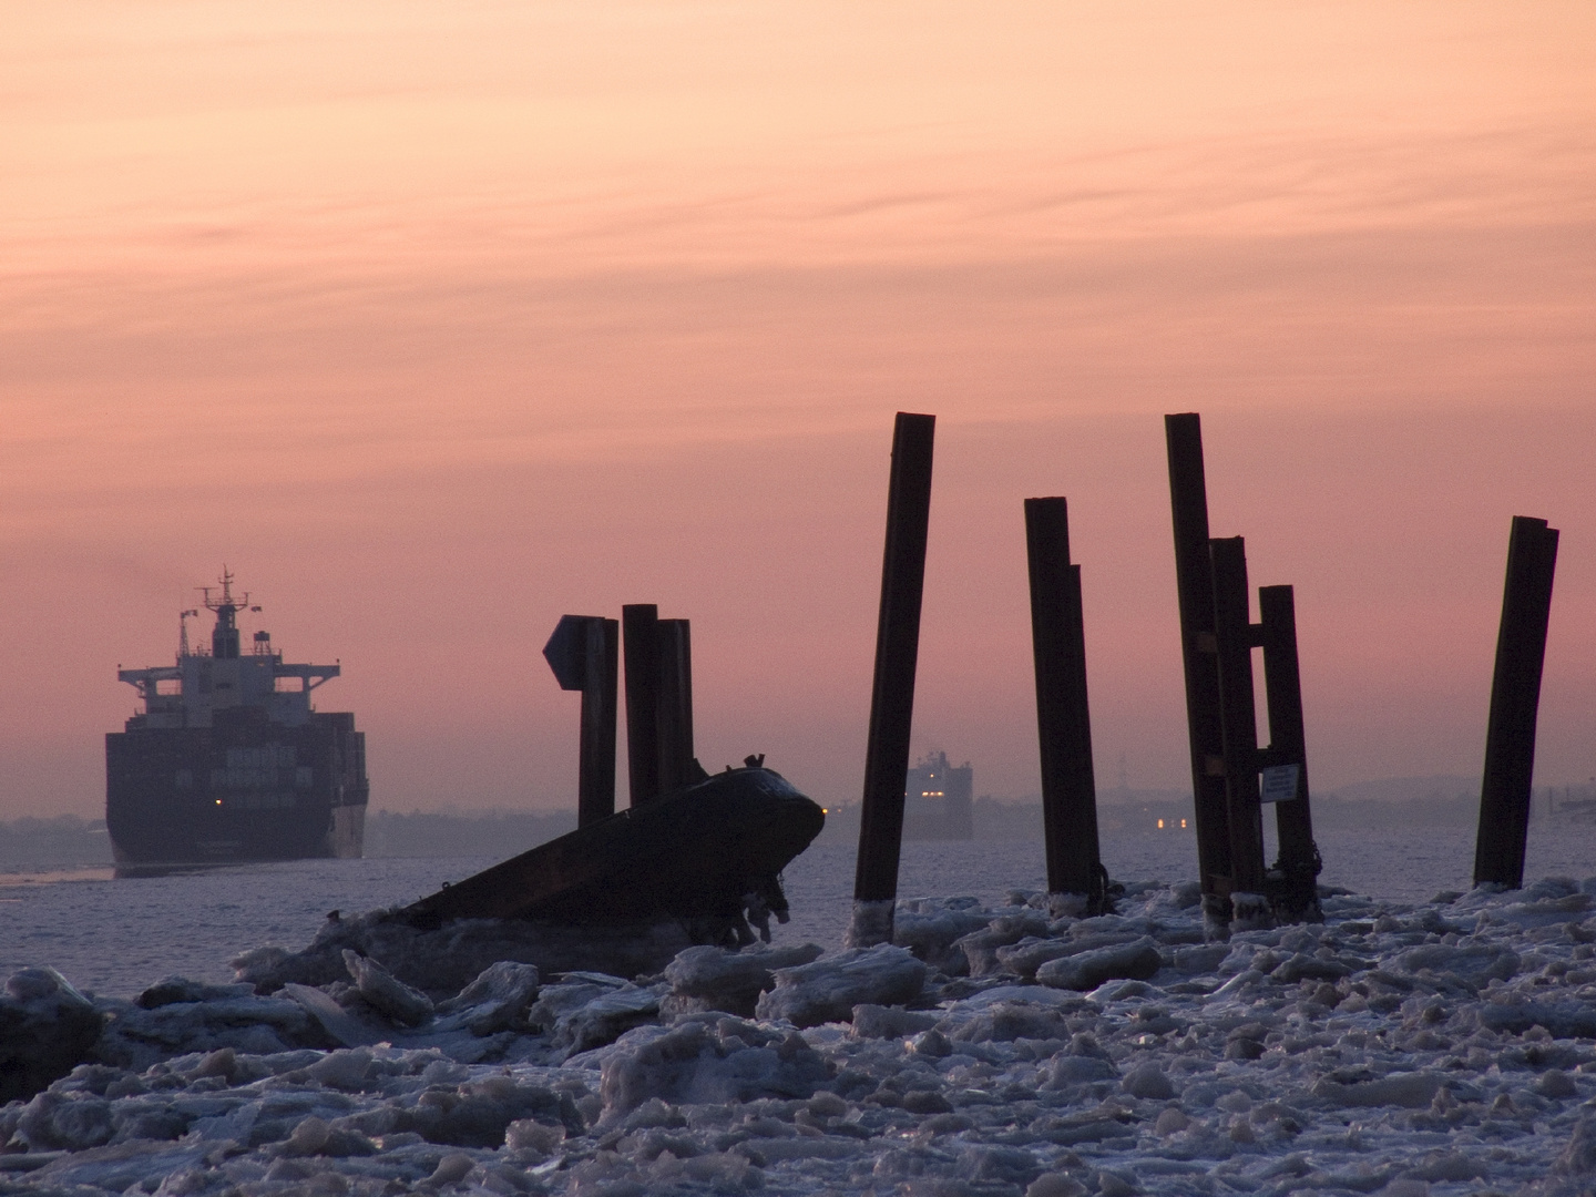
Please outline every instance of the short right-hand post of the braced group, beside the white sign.
[{"label": "short right-hand post of the braced group, beside the white sign", "polygon": [[1258,589],[1258,619],[1264,646],[1264,696],[1269,704],[1269,764],[1296,766],[1296,796],[1277,801],[1275,832],[1280,857],[1270,873],[1280,876],[1277,907],[1291,919],[1320,918],[1314,816],[1307,790],[1307,733],[1302,725],[1302,672],[1296,650],[1296,597],[1290,586]]}]

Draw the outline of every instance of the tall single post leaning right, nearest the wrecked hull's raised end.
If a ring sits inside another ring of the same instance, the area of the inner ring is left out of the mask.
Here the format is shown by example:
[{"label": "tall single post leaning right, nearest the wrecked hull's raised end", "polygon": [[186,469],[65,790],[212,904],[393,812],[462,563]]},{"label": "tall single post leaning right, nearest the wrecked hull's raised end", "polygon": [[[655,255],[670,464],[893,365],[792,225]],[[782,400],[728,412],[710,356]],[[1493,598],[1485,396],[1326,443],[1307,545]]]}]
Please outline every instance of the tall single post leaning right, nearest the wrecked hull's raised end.
[{"label": "tall single post leaning right, nearest the wrecked hull's raised end", "polygon": [[870,741],[865,745],[865,795],[854,873],[854,918],[847,932],[847,943],[855,948],[892,940],[935,431],[937,417],[908,412],[897,413],[892,429],[892,479],[887,485]]}]

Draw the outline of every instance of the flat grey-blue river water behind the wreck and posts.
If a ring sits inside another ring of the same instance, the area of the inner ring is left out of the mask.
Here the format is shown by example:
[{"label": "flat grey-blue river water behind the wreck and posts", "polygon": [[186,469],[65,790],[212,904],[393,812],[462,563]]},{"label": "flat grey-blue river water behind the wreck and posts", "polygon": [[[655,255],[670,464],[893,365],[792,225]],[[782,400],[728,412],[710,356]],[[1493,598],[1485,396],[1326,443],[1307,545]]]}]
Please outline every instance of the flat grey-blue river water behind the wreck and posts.
[{"label": "flat grey-blue river water behind the wreck and posts", "polygon": [[[1473,832],[1451,827],[1395,832],[1321,832],[1323,884],[1376,899],[1422,902],[1468,889]],[[1189,832],[1103,836],[1103,859],[1119,881],[1195,878]],[[306,945],[327,911],[413,902],[495,859],[295,860],[164,878],[115,879],[110,870],[35,878],[0,875],[0,977],[49,964],[85,990],[129,998],[172,974],[228,982],[228,961],[268,943]],[[1596,875],[1596,827],[1537,822],[1526,878]],[[985,839],[903,844],[899,895],[969,894],[1001,899],[1042,889],[1042,844]],[[777,943],[841,943],[854,884],[854,849],[819,844],[787,870],[793,919]]]}]

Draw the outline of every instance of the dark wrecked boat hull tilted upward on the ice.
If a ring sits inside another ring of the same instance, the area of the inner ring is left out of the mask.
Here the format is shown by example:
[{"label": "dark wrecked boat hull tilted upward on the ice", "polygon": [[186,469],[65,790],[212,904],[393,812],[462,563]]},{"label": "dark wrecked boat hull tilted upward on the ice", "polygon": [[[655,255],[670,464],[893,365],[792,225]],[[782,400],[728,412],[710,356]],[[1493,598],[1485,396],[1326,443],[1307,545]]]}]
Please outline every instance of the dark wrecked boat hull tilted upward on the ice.
[{"label": "dark wrecked boat hull tilted upward on the ice", "polygon": [[779,772],[728,769],[445,886],[402,916],[417,926],[707,919],[744,938],[745,916],[785,922],[780,871],[824,825],[825,812]]}]

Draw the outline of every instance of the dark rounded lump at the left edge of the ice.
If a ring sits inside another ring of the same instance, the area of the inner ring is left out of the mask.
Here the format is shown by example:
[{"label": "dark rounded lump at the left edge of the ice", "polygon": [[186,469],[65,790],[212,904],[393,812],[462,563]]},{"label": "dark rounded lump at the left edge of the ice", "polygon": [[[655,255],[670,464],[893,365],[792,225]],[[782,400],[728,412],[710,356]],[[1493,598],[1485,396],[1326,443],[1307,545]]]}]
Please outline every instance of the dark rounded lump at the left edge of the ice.
[{"label": "dark rounded lump at the left edge of the ice", "polygon": [[34,1096],[85,1061],[101,1023],[94,1004],[54,969],[11,974],[0,996],[0,1104]]}]

